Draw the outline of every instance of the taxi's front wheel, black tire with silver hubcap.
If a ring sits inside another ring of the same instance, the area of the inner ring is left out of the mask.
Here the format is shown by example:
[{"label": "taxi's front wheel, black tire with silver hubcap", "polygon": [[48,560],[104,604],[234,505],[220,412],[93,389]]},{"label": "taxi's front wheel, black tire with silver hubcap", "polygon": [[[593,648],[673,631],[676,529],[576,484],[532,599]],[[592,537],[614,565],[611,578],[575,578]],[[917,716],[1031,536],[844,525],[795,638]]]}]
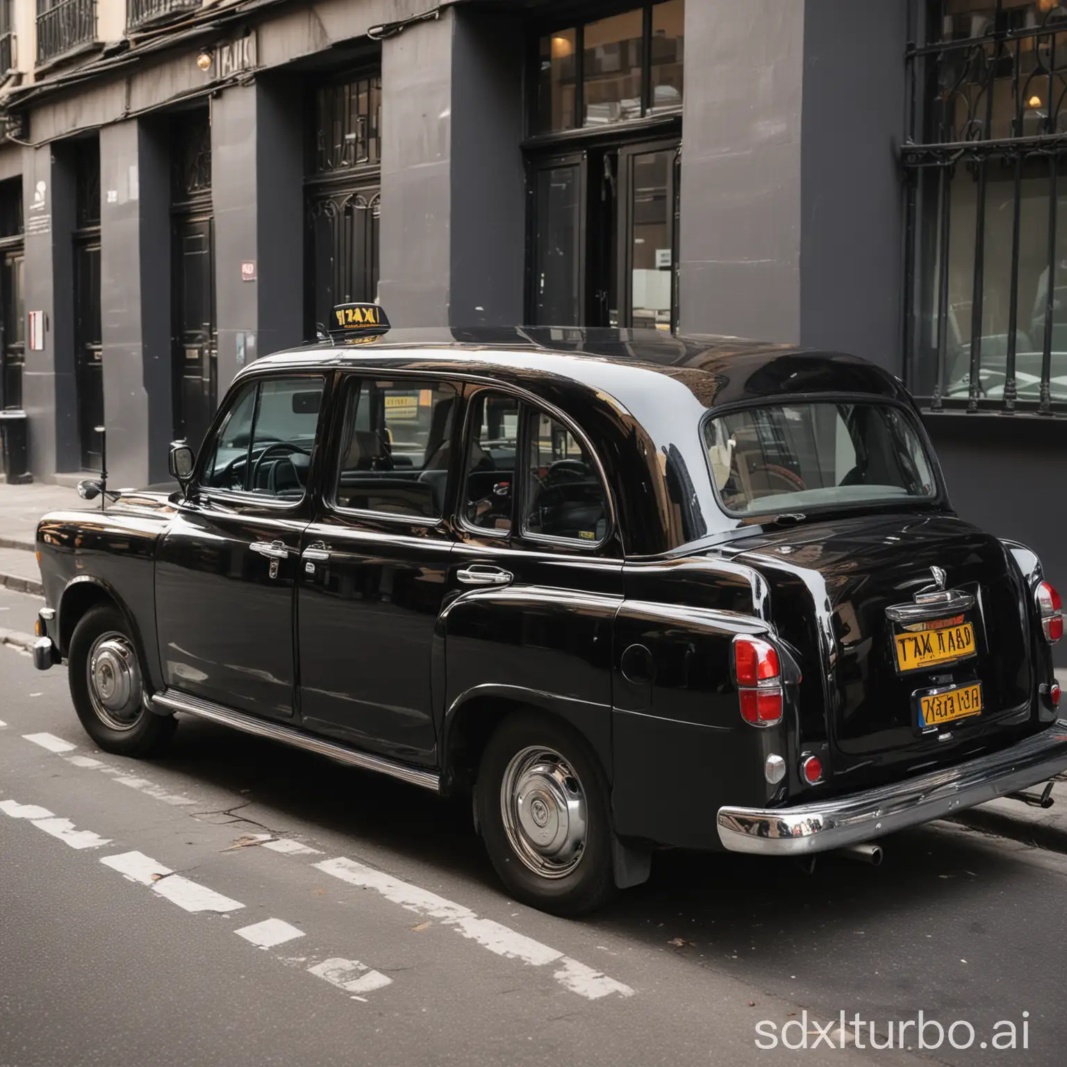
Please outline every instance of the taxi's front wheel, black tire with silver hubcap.
[{"label": "taxi's front wheel, black tire with silver hubcap", "polygon": [[[156,715],[144,706],[144,669],[137,649],[125,616],[110,604],[97,605],[75,626],[67,650],[67,681],[78,718],[97,746],[117,755],[143,758],[162,752],[177,721],[173,715]],[[94,650],[99,686],[90,680]],[[120,705],[118,698],[127,690],[128,698]],[[113,706],[105,703],[101,692]]]}]

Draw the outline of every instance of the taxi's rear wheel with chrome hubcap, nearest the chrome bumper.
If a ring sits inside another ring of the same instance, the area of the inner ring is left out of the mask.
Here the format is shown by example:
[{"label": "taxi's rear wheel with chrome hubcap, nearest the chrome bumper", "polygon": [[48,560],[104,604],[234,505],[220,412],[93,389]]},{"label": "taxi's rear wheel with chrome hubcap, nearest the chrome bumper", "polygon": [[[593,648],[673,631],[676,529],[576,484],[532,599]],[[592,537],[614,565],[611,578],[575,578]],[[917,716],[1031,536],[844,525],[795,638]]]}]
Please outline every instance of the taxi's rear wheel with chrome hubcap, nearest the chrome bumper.
[{"label": "taxi's rear wheel with chrome hubcap, nearest the chrome bumper", "polygon": [[577,733],[544,716],[512,715],[485,747],[477,789],[485,848],[517,899],[577,915],[611,896],[607,787]]}]

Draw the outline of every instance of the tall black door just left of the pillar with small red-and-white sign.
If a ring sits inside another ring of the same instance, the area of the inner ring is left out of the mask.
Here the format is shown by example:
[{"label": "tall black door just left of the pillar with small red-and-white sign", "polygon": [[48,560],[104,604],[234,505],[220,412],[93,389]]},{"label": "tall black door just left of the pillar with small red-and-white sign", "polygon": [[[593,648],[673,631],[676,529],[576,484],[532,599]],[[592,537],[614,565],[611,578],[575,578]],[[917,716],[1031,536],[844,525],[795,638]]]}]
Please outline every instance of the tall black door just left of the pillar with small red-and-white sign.
[{"label": "tall black door just left of the pillar with small red-and-white sign", "polygon": [[176,220],[174,252],[174,434],[197,449],[218,391],[211,219]]}]

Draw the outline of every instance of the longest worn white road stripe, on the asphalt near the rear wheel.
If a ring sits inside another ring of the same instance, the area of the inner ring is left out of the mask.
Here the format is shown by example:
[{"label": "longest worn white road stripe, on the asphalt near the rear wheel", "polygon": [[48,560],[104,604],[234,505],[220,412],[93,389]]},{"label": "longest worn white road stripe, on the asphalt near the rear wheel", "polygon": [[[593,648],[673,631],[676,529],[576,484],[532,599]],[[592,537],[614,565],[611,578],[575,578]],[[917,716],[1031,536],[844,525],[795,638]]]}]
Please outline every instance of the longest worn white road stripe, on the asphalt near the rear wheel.
[{"label": "longest worn white road stripe, on the asphalt near the rear wheel", "polygon": [[560,985],[578,993],[588,1000],[598,1000],[608,993],[619,993],[621,997],[632,997],[634,990],[621,982],[607,977],[600,971],[586,967],[556,949],[540,941],[517,934],[515,930],[494,922],[491,919],[480,919],[469,908],[461,904],[446,901],[436,893],[430,893],[418,886],[394,878],[383,871],[365,866],[353,860],[338,857],[323,860],[314,866],[324,874],[333,875],[341,881],[362,889],[372,889],[381,893],[387,901],[399,904],[416,914],[436,919],[445,926],[451,926],[465,938],[477,941],[482,947],[508,959],[520,959],[531,967],[543,967],[546,964],[560,964],[553,977]]}]

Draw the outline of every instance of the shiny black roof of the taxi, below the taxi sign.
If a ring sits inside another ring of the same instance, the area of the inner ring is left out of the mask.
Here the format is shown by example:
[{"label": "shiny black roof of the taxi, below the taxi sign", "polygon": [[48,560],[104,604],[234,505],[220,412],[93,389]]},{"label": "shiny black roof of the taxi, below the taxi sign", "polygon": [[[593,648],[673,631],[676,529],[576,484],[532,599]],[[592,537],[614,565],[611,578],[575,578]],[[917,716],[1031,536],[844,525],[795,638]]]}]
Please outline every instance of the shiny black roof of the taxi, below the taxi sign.
[{"label": "shiny black roof of the taxi, below the taxi sign", "polygon": [[[239,377],[268,368],[338,366],[466,370],[508,380],[548,376],[561,380],[559,384],[570,380],[609,392],[624,404],[633,394],[660,392],[667,385],[664,379],[687,387],[704,408],[790,394],[869,394],[896,400],[907,396],[898,379],[859,356],[652,329],[393,329],[377,337],[320,340],[276,352],[251,364]],[[627,372],[620,373],[623,368]]]}]

